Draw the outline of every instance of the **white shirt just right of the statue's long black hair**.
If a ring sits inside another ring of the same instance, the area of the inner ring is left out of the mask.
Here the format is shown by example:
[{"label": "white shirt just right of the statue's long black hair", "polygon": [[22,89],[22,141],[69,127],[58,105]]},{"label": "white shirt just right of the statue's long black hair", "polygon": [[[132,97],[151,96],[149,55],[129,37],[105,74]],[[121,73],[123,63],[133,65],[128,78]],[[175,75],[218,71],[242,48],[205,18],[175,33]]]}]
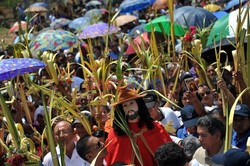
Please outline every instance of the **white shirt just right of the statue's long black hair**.
[{"label": "white shirt just right of the statue's long black hair", "polygon": [[174,111],[171,108],[159,107],[159,110],[161,111],[162,115],[164,116],[164,118],[161,120],[161,123],[163,125],[166,125],[170,121],[172,121],[174,129],[178,129],[179,127],[181,127],[181,124],[180,124],[177,116],[175,115]]}]

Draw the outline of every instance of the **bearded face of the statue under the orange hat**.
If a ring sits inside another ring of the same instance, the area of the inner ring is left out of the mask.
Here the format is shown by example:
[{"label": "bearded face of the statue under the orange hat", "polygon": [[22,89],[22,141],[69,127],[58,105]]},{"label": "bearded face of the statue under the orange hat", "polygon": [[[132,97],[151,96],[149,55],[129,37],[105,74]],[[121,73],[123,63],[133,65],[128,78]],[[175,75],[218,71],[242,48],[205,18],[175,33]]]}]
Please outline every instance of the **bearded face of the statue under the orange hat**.
[{"label": "bearded face of the statue under the orange hat", "polygon": [[138,105],[135,100],[129,100],[122,103],[122,107],[129,121],[136,122],[139,120]]}]

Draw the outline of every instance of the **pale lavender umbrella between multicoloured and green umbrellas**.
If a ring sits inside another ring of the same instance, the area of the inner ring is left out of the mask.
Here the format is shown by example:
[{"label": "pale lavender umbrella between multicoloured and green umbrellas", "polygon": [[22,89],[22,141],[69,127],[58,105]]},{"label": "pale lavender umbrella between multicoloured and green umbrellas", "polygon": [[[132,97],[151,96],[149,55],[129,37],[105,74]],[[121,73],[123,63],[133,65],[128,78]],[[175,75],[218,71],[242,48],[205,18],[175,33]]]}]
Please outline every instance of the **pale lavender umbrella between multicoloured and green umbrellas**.
[{"label": "pale lavender umbrella between multicoloured and green umbrellas", "polygon": [[107,34],[117,33],[119,30],[120,30],[119,28],[112,25],[110,25],[109,27],[107,23],[96,23],[85,28],[79,35],[79,38],[81,39],[96,38],[105,36]]}]

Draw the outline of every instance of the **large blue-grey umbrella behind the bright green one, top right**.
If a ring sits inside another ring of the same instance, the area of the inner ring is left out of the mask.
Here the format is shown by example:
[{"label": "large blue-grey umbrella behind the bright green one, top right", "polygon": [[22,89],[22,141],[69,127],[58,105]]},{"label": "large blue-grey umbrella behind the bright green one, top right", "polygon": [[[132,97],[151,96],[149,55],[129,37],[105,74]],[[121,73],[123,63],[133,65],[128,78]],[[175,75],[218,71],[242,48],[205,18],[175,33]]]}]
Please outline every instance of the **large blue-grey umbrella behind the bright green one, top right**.
[{"label": "large blue-grey umbrella behind the bright green one, top right", "polygon": [[[169,15],[167,17],[169,18]],[[211,12],[200,7],[183,6],[174,10],[174,21],[187,27],[204,28],[216,20],[217,18]]]}]

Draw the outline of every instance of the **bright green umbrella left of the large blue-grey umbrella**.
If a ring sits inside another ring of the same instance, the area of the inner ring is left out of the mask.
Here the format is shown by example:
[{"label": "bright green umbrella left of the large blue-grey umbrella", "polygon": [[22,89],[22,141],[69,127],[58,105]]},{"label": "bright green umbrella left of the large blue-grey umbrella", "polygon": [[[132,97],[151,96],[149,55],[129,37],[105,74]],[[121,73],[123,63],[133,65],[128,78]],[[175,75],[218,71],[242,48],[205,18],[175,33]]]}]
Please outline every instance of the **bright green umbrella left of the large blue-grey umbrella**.
[{"label": "bright green umbrella left of the large blue-grey umbrella", "polygon": [[[155,32],[162,32],[164,30],[165,34],[170,35],[170,21],[166,18],[166,16],[160,16],[153,19],[151,22],[145,25],[145,29],[147,32],[151,32],[151,24]],[[181,27],[179,24],[174,23],[174,34],[175,36],[184,36],[185,29]]]}]

